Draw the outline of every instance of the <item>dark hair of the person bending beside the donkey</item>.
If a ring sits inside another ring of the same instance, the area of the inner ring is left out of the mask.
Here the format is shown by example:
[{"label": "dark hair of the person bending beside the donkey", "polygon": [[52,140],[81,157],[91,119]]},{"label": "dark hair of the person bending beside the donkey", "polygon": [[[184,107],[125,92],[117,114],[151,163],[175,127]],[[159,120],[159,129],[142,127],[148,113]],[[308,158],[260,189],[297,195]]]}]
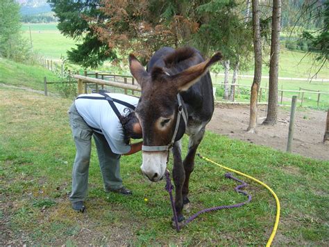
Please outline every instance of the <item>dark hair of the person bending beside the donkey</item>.
[{"label": "dark hair of the person bending beside the donkey", "polygon": [[137,134],[136,132],[134,132],[133,129],[135,123],[139,122],[138,118],[135,115],[135,111],[129,108],[124,109],[124,112],[126,111],[128,111],[128,113],[126,115],[121,115],[119,120],[124,129],[124,143],[129,145],[130,138],[140,139],[142,138],[142,134]]}]

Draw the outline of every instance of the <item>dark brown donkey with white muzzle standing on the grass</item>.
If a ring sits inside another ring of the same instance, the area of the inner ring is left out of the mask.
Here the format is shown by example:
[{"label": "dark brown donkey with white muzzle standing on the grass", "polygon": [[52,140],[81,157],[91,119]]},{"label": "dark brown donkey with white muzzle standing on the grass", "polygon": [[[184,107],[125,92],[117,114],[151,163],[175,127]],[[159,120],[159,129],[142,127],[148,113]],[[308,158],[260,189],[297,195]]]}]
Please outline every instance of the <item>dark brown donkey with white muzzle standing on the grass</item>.
[{"label": "dark brown donkey with white muzzle standing on the grass", "polygon": [[[142,88],[135,113],[143,132],[142,173],[152,182],[162,180],[172,148],[175,207],[183,223],[183,206],[189,207],[189,176],[205,125],[212,118],[214,97],[208,69],[221,60],[217,53],[205,61],[192,47],[164,47],[144,67],[130,54],[130,72]],[[188,153],[181,157],[183,134],[189,135]]]}]

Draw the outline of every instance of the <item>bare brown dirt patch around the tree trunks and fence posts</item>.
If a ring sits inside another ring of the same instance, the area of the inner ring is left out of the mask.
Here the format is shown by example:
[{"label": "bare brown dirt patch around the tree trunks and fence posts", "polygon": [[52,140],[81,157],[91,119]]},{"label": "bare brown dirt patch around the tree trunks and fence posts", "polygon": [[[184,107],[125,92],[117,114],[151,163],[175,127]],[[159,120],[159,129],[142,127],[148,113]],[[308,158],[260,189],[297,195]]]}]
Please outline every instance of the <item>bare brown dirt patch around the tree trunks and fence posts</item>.
[{"label": "bare brown dirt patch around the tree trunks and fence posts", "polygon": [[[289,129],[289,110],[278,109],[279,121],[275,126],[261,125],[266,114],[266,106],[259,106],[258,127],[256,133],[251,134],[246,132],[249,122],[249,106],[219,105],[214,109],[214,115],[207,129],[229,138],[285,151]],[[326,111],[297,109],[292,143],[294,154],[329,160],[329,143],[322,142],[326,128],[326,116]]]}]

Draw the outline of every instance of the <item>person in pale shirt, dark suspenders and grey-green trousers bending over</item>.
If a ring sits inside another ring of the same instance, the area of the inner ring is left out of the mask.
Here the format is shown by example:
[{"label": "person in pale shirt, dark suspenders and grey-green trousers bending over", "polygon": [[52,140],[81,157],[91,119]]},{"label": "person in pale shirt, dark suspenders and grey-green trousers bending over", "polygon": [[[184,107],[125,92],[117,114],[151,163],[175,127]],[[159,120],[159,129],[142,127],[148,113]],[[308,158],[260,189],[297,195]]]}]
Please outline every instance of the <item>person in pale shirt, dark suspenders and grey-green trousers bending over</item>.
[{"label": "person in pale shirt, dark suspenders and grey-green trousers bending over", "polygon": [[99,166],[106,192],[131,195],[122,185],[121,154],[134,154],[142,142],[130,144],[130,138],[142,138],[142,129],[135,112],[136,97],[118,93],[79,95],[69,109],[69,123],[76,144],[72,171],[72,208],[84,212],[92,136],[96,144]]}]

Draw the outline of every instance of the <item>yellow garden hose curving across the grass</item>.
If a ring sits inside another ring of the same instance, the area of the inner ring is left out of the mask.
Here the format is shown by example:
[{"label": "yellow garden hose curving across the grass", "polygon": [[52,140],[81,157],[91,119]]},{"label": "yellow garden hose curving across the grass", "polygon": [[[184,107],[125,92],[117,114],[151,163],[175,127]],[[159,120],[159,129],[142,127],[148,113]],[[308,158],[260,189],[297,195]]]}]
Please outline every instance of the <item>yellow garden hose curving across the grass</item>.
[{"label": "yellow garden hose curving across the grass", "polygon": [[271,236],[269,237],[269,240],[267,241],[267,244],[266,244],[267,247],[268,247],[268,246],[271,246],[272,241],[273,241],[273,239],[274,239],[274,236],[276,235],[276,230],[278,229],[278,224],[279,224],[279,220],[280,220],[280,202],[279,202],[278,196],[276,196],[276,193],[274,193],[274,191],[273,191],[269,186],[267,186],[267,184],[264,184],[262,181],[255,179],[255,177],[251,177],[251,176],[246,175],[246,174],[244,174],[244,173],[242,173],[242,172],[239,172],[238,170],[234,170],[234,169],[232,169],[232,168],[228,168],[228,167],[226,167],[226,166],[222,166],[222,165],[220,165],[220,164],[218,164],[218,163],[212,161],[211,159],[208,159],[208,158],[206,158],[206,157],[201,156],[201,154],[198,154],[198,156],[199,156],[201,159],[204,159],[205,161],[209,161],[210,163],[215,164],[215,165],[217,165],[217,166],[219,166],[219,167],[221,167],[221,168],[223,168],[223,169],[225,169],[225,170],[230,170],[230,171],[233,172],[233,173],[237,173],[237,174],[242,175],[242,176],[244,176],[244,177],[248,177],[249,179],[251,179],[251,180],[257,182],[258,184],[261,184],[261,185],[264,186],[266,189],[268,189],[269,192],[271,192],[271,194],[273,195],[274,199],[276,199],[276,221],[275,221],[275,223],[274,223],[274,226],[273,226],[273,230],[272,230]]}]

